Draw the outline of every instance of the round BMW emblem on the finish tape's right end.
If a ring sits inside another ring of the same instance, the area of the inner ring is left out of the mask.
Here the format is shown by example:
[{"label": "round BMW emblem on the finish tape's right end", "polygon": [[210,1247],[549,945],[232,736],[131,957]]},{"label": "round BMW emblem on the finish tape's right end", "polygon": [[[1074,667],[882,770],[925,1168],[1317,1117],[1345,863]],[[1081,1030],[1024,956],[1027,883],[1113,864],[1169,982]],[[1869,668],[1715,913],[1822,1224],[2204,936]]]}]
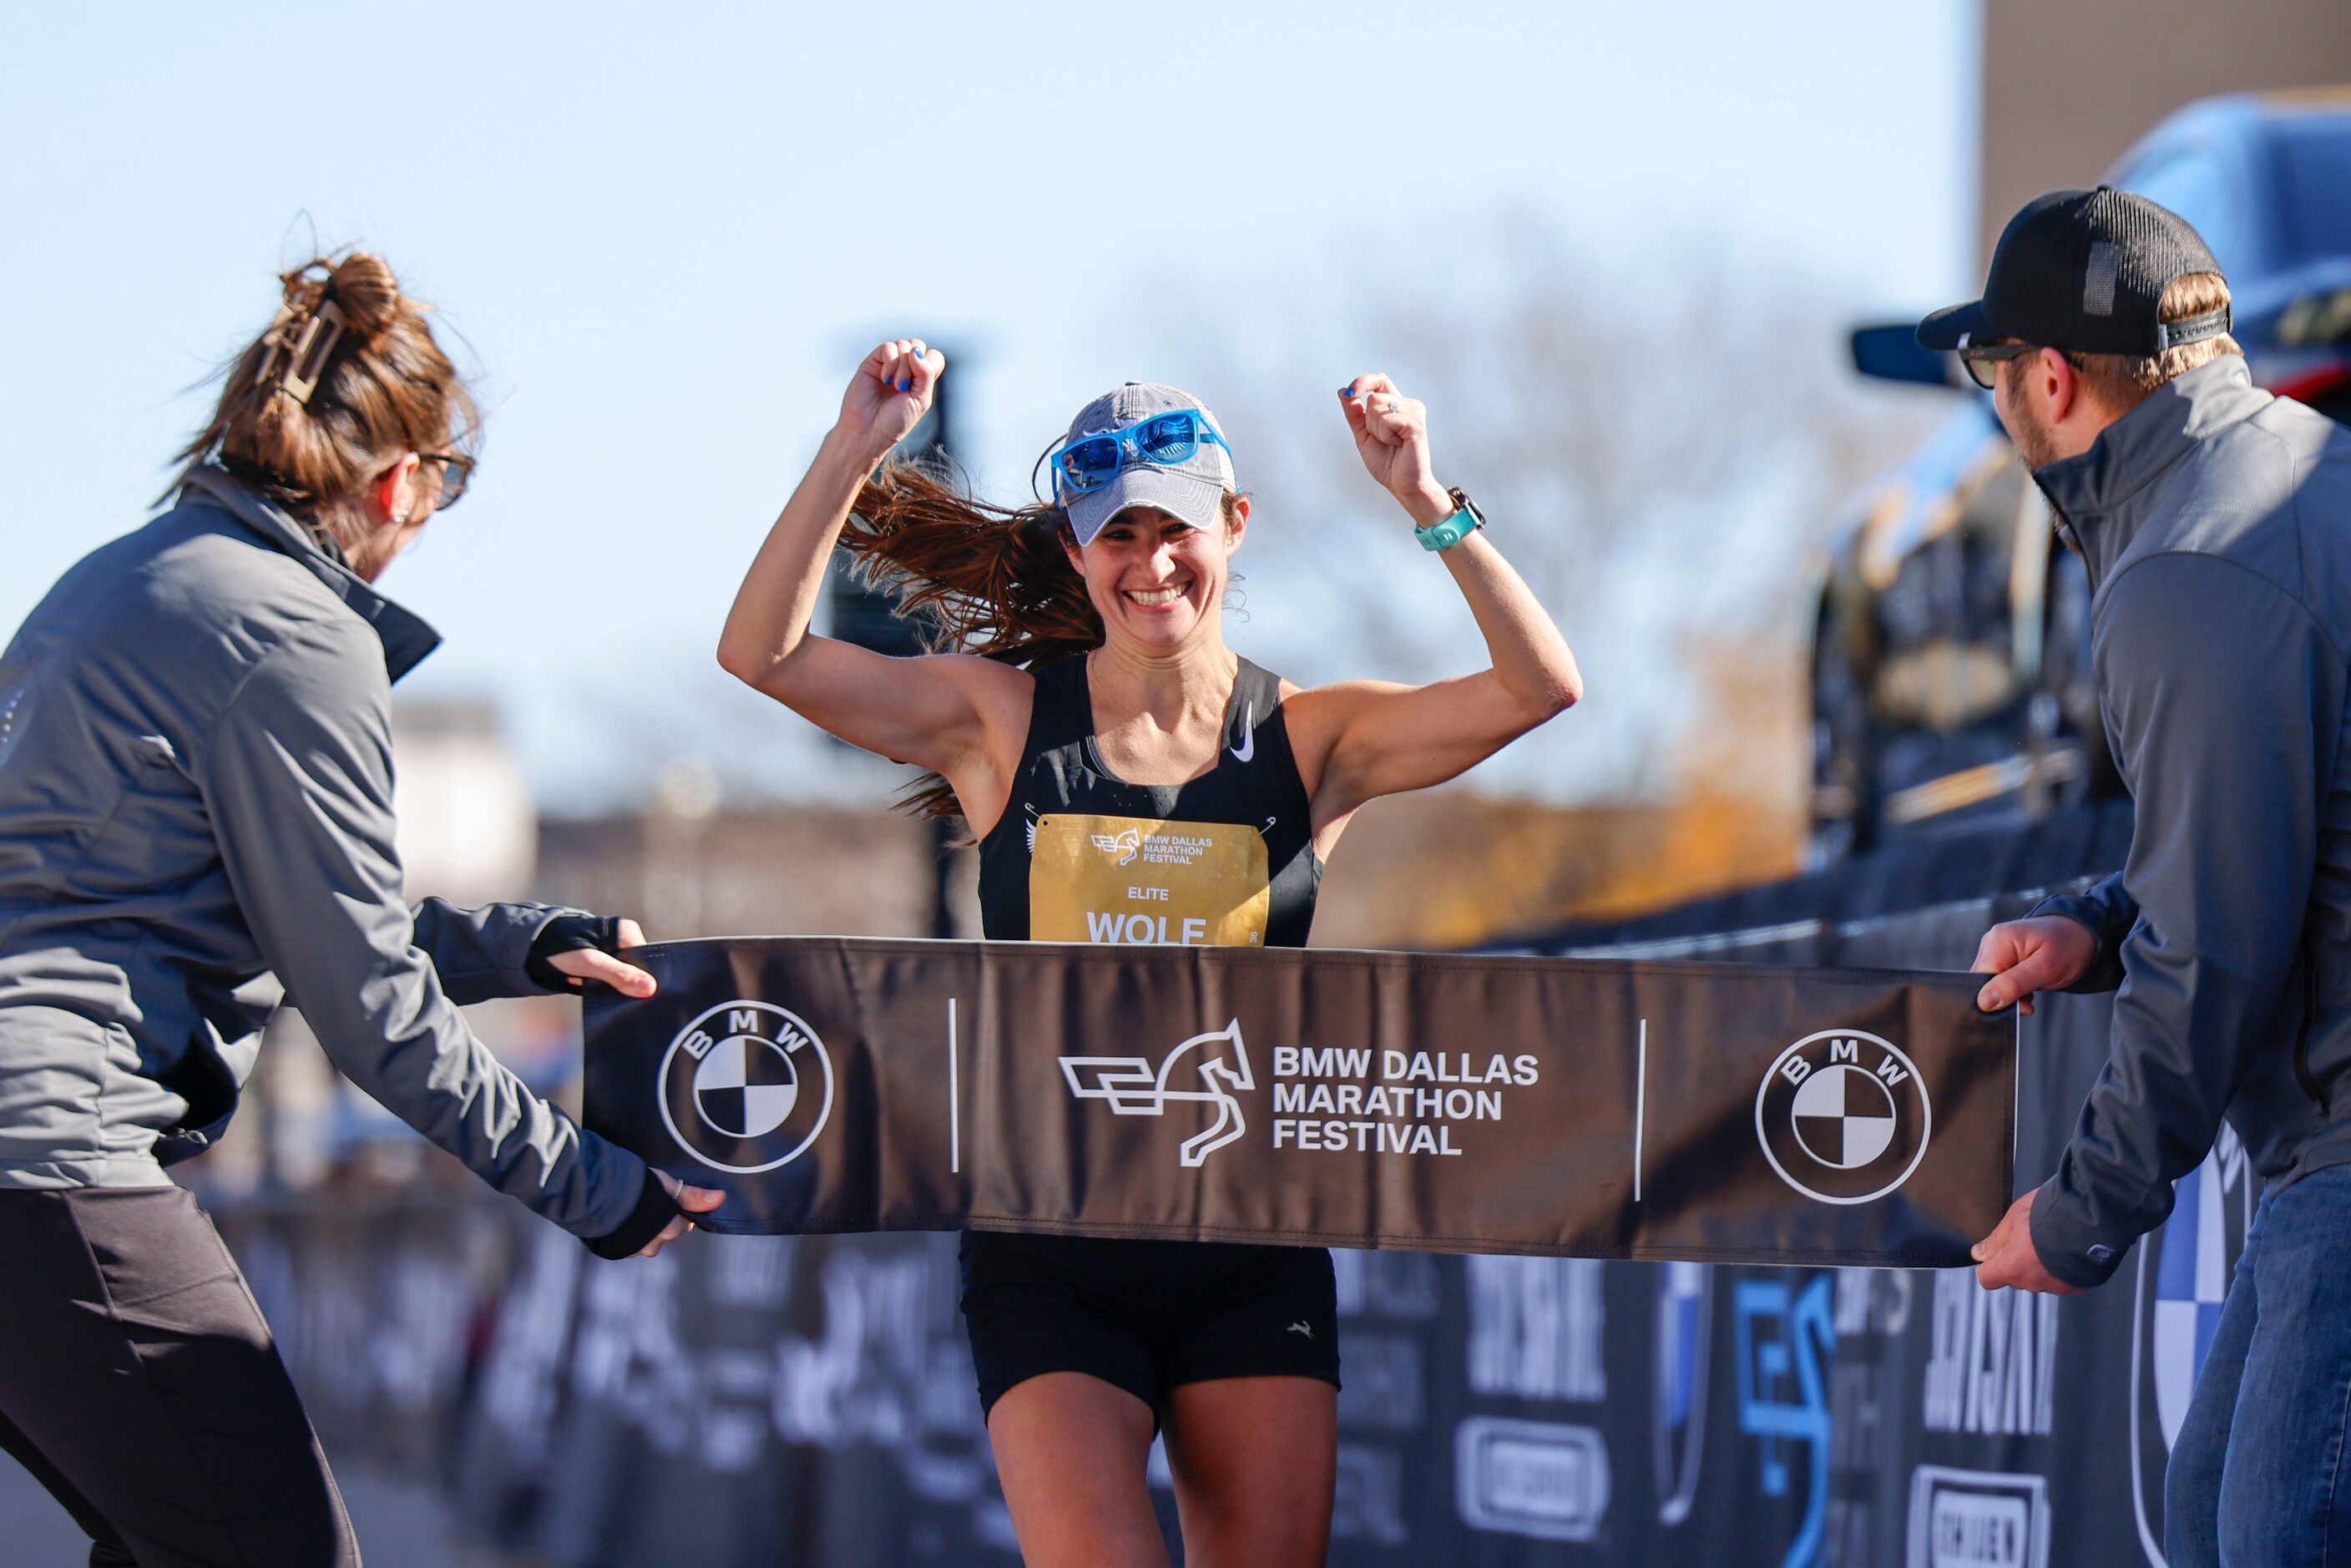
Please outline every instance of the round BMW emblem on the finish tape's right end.
[{"label": "round BMW emblem on the finish tape's right end", "polygon": [[1860,1030],[1806,1034],[1756,1088],[1763,1159],[1822,1204],[1867,1204],[1907,1182],[1930,1131],[1918,1067]]}]

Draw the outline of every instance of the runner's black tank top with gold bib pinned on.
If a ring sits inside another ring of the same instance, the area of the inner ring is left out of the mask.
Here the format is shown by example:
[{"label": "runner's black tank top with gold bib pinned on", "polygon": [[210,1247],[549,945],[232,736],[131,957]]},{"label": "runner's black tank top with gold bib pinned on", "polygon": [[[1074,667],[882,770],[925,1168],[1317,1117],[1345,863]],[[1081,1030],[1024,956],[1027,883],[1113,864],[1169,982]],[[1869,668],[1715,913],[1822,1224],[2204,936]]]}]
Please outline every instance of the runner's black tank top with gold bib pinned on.
[{"label": "runner's black tank top with gold bib pinned on", "polygon": [[1215,769],[1133,785],[1103,766],[1086,661],[1034,670],[1011,799],[980,842],[990,940],[1305,947],[1321,860],[1281,722],[1281,682],[1246,658]]}]

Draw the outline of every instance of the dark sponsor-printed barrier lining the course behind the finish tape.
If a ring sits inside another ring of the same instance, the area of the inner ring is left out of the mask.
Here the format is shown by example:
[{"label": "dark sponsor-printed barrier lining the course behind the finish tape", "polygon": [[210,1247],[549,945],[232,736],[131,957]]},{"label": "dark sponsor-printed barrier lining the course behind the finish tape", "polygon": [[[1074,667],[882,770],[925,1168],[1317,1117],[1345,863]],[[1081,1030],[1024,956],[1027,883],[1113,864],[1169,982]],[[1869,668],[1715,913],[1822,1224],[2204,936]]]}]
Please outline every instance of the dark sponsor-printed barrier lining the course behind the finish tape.
[{"label": "dark sponsor-printed barrier lining the course behind the finish tape", "polygon": [[[1965,964],[2036,898],[1733,950]],[[2106,1060],[2109,1001],[2022,1023],[2022,1185]],[[1970,1269],[1338,1251],[1331,1563],[2163,1568],[2163,1474],[2257,1201],[2222,1131],[2114,1281],[2064,1300]],[[216,1213],[334,1462],[447,1483],[529,1561],[1020,1561],[952,1237],[600,1262],[487,1192]],[[1150,1495],[1173,1533],[1159,1455]]]}]

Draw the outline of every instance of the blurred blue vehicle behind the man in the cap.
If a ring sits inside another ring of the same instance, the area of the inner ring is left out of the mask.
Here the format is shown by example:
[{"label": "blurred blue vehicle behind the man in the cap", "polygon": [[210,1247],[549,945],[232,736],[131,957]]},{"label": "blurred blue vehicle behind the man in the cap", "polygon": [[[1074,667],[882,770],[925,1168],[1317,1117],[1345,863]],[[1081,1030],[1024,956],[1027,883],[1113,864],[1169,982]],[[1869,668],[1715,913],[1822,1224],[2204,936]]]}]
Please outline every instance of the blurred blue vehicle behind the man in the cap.
[{"label": "blurred blue vehicle behind the man in the cap", "polygon": [[[2106,183],[2205,237],[2257,383],[2351,423],[2351,89],[2191,103]],[[1855,369],[1961,404],[1834,536],[1813,637],[1815,863],[2121,792],[2081,562],[2055,545],[1991,395],[1911,329],[1857,329]]]}]

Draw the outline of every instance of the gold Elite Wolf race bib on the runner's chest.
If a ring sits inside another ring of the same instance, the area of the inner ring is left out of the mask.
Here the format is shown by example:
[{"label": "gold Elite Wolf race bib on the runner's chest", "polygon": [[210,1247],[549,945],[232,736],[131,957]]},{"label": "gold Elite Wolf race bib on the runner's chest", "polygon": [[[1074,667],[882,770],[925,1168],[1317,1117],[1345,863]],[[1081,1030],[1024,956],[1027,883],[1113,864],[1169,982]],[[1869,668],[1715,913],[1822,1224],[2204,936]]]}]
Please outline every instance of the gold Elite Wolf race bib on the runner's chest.
[{"label": "gold Elite Wolf race bib on the runner's chest", "polygon": [[1037,818],[1030,940],[1262,947],[1272,905],[1265,835],[1255,827]]}]

